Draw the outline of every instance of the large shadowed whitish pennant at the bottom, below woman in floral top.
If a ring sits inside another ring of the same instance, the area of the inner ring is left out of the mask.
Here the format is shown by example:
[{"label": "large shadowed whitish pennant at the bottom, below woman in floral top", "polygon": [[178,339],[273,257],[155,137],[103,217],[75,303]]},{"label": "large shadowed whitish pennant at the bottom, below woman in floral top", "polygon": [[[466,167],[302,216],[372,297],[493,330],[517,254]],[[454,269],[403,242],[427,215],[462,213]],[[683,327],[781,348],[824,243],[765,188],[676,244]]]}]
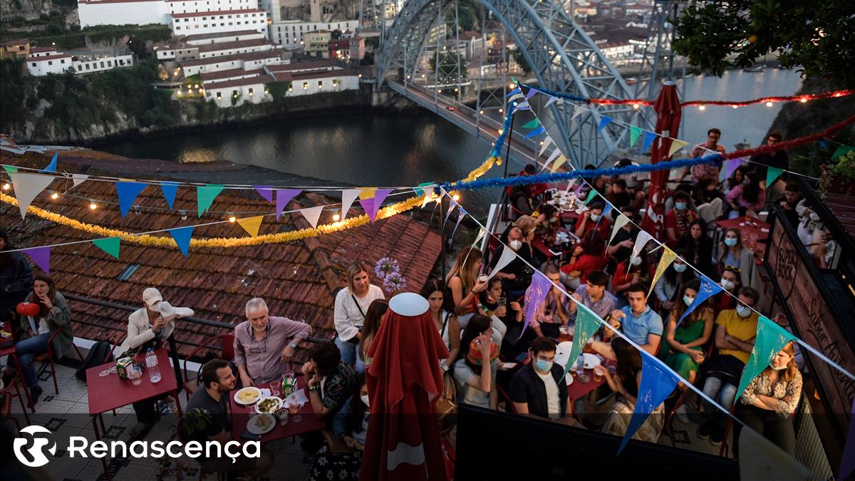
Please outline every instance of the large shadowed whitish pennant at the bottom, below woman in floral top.
[{"label": "large shadowed whitish pennant at the bottom, below woman in floral top", "polygon": [[743,427],[740,433],[740,478],[780,479],[796,481],[811,479],[811,470],[792,455],[775,446],[757,431]]}]

